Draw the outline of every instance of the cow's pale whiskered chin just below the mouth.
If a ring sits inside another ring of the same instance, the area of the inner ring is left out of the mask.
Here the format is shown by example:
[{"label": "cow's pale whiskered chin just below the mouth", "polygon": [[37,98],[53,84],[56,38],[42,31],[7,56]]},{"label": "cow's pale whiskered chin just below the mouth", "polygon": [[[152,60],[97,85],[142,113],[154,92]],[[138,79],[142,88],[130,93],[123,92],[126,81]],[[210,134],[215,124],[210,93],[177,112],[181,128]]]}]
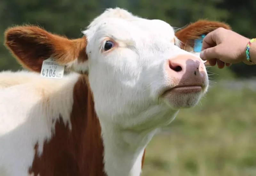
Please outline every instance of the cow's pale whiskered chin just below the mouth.
[{"label": "cow's pale whiskered chin just below the mouth", "polygon": [[190,108],[197,105],[203,95],[203,91],[175,91],[171,90],[163,95],[164,102],[173,109]]}]

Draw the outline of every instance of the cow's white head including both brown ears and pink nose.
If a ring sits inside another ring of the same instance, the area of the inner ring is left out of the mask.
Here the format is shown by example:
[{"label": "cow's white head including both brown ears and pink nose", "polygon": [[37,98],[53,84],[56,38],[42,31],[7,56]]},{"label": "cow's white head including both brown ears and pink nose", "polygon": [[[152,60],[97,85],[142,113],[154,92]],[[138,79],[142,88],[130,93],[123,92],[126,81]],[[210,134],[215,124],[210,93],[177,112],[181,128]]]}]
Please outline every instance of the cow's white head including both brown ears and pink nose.
[{"label": "cow's white head including both brown ears and pink nose", "polygon": [[7,29],[5,44],[29,70],[40,72],[42,62],[51,57],[66,71],[87,74],[101,120],[131,128],[150,117],[151,125],[156,118],[166,123],[170,112],[198,103],[207,91],[208,76],[190,49],[193,40],[218,27],[228,28],[198,21],[175,33],[162,20],[116,8],[95,18],[79,39],[16,26]]}]

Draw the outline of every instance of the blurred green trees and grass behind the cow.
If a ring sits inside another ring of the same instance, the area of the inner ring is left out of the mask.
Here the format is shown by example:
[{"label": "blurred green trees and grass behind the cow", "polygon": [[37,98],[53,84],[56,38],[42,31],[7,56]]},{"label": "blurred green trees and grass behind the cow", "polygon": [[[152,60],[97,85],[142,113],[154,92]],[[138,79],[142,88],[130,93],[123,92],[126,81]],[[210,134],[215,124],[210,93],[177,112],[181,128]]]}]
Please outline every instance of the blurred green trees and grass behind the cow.
[{"label": "blurred green trees and grass behind the cow", "polygon": [[[256,37],[255,0],[0,0],[0,42],[7,27],[22,24],[81,37],[81,30],[109,7],[177,28],[198,19],[218,20]],[[4,45],[0,58],[0,70],[21,69]],[[181,110],[149,143],[143,176],[256,175],[256,66],[207,70],[209,93],[195,108]]]}]

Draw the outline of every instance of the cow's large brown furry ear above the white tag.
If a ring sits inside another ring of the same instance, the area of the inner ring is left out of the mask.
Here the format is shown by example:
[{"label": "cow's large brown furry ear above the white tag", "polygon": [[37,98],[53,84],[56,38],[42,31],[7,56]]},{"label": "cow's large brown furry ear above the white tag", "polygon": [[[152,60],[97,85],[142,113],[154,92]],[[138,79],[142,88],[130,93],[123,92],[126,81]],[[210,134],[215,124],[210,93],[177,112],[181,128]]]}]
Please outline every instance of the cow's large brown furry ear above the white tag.
[{"label": "cow's large brown furry ear above the white tag", "polygon": [[38,26],[16,26],[5,31],[5,46],[20,64],[40,72],[45,59],[52,57],[60,65],[79,58],[87,60],[86,38],[69,40]]}]

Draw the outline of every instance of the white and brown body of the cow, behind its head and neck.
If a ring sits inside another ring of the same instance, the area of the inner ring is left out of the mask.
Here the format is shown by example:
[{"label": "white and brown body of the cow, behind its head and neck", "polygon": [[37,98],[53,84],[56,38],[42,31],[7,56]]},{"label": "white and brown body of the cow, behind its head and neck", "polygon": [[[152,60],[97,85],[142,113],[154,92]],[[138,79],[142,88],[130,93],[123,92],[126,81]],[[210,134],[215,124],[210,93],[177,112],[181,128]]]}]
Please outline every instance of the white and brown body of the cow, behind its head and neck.
[{"label": "white and brown body of the cow, behind its head and neck", "polygon": [[[0,90],[1,176],[25,176],[28,168],[34,175],[105,175],[101,128],[87,76],[73,73],[54,80],[22,74],[37,79]],[[13,101],[20,90],[23,93]],[[144,150],[140,152],[135,172],[140,172]],[[8,165],[15,169],[5,170]]]}]

